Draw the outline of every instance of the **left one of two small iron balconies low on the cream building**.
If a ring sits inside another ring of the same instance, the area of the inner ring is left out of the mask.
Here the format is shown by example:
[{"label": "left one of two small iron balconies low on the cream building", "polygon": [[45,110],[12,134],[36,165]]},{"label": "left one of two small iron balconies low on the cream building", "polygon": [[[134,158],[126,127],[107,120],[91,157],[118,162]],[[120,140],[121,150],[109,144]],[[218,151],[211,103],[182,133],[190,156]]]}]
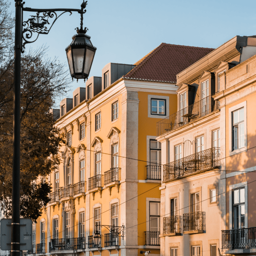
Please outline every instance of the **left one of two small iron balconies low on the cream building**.
[{"label": "left one of two small iron balconies low on the cream building", "polygon": [[163,218],[163,235],[180,236],[182,233],[182,216],[169,216]]}]

